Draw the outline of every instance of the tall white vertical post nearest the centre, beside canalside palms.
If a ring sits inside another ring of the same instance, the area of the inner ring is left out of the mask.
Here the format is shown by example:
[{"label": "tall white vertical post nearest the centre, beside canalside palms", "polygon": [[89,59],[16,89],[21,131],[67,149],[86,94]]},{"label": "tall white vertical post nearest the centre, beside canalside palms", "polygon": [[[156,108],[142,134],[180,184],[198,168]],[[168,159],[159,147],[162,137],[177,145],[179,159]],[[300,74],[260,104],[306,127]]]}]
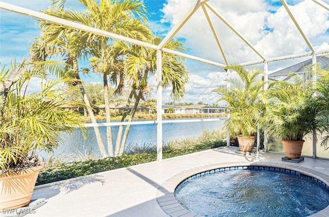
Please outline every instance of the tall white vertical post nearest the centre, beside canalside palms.
[{"label": "tall white vertical post nearest the centre, beside canalside palms", "polygon": [[162,162],[162,52],[156,51],[156,150],[157,161]]}]

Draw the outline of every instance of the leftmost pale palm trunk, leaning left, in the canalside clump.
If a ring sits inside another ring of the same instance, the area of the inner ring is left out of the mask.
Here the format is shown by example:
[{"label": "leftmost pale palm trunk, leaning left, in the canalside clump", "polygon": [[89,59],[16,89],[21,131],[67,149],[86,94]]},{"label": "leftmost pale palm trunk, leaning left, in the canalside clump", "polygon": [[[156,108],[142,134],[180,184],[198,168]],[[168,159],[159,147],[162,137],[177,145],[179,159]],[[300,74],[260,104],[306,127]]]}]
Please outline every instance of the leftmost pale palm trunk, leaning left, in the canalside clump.
[{"label": "leftmost pale palm trunk, leaning left, in the canalside clump", "polygon": [[[78,60],[76,58],[74,58],[74,61],[73,61],[73,69],[75,71],[76,78],[79,80],[79,83],[78,83],[79,89],[80,89],[80,92],[82,94],[83,101],[87,106],[87,110],[88,110],[88,113],[89,113],[89,116],[90,116],[90,120],[92,121],[93,124],[97,124],[97,121],[96,121],[96,118],[95,118],[95,115],[94,115],[94,111],[92,109],[92,106],[90,106],[90,102],[88,100],[86,91],[85,91],[82,83],[80,82],[80,75],[79,75],[79,70],[78,70]],[[102,137],[101,137],[101,133],[99,131],[99,128],[94,127],[94,131],[95,131],[98,148],[101,152],[101,155],[102,155],[103,158],[107,157],[107,153],[106,153],[103,141],[102,141]]]}]

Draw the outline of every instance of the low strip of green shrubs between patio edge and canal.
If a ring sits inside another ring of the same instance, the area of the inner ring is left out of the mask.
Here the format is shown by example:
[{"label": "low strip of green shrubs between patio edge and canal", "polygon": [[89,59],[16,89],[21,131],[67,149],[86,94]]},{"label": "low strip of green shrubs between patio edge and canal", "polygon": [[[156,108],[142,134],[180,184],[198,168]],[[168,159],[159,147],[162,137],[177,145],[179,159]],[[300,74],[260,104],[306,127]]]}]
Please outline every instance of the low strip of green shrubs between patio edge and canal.
[{"label": "low strip of green shrubs between patio edge and canal", "polygon": [[[145,147],[149,147],[150,144],[145,144]],[[184,154],[194,153],[197,151],[203,151],[207,149],[217,148],[226,146],[225,140],[208,141],[205,143],[195,143],[194,145],[181,149],[171,149],[168,146],[163,150],[163,159],[168,159],[170,157],[180,156]],[[144,148],[145,148],[144,147]],[[137,149],[137,148],[136,148]],[[153,149],[153,148],[151,148]],[[89,175],[97,172],[103,172],[113,169],[118,169],[122,167],[129,167],[133,165],[149,163],[156,161],[156,152],[147,153],[142,152],[138,154],[123,154],[116,157],[106,157],[105,159],[98,160],[85,160],[77,162],[65,162],[54,164],[52,167],[50,165],[39,173],[36,185],[42,185],[51,182],[57,182],[61,180],[71,179],[74,177]]]}]

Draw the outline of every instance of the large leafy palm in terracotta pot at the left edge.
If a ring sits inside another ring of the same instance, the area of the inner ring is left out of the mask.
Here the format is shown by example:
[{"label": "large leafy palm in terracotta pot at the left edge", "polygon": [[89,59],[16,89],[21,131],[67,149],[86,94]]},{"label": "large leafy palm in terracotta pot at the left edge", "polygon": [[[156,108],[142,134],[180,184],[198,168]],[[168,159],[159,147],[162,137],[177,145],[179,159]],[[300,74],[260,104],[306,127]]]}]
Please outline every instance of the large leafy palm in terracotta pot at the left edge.
[{"label": "large leafy palm in terracotta pot at the left edge", "polygon": [[[63,109],[75,102],[65,100],[58,85],[72,79],[46,80],[45,69],[59,68],[24,61],[0,71],[0,210],[27,205],[44,164],[38,151],[52,151],[63,132],[83,127],[77,112]],[[35,78],[42,80],[41,90],[29,93]]]}]

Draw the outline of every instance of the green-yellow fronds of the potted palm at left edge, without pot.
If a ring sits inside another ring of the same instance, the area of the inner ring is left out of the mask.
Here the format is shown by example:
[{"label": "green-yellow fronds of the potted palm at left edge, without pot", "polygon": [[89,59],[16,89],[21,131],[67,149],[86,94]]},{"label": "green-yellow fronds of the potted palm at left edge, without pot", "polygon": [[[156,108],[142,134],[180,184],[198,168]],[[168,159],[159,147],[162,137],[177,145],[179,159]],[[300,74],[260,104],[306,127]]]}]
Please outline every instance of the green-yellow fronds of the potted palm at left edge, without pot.
[{"label": "green-yellow fronds of the potted palm at left edge, without pot", "polygon": [[[3,87],[0,100],[0,173],[39,166],[42,160],[38,151],[52,151],[64,141],[64,133],[69,134],[77,127],[84,132],[79,113],[64,109],[76,102],[66,100],[59,86],[74,80],[64,77],[47,80],[46,71],[62,73],[63,66],[52,61],[38,64],[25,61],[13,63],[11,68],[2,67],[0,83],[10,81],[11,85]],[[12,80],[12,74],[17,72],[20,75]],[[41,90],[29,93],[29,84],[35,79],[42,81]]]}]

